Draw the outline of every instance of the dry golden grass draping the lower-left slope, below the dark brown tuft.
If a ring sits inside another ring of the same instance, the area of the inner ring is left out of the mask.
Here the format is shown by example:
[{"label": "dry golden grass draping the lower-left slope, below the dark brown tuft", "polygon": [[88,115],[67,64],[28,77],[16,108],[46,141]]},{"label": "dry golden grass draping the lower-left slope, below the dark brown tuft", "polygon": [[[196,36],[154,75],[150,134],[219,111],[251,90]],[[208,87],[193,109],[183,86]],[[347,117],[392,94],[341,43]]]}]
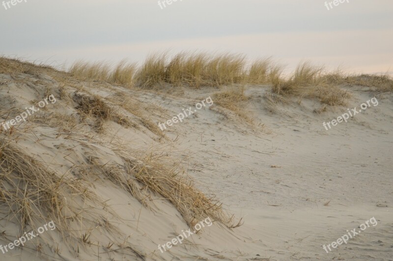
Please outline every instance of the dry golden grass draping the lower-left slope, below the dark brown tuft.
[{"label": "dry golden grass draping the lower-left slope, below the dark brown tuft", "polygon": [[[74,133],[79,134],[81,133]],[[97,245],[89,239],[92,231],[96,230],[94,228],[99,227],[99,234],[102,230],[110,234],[121,233],[108,220],[108,214],[117,217],[116,213],[99,195],[92,192],[92,182],[97,180],[109,179],[150,211],[157,210],[152,208],[153,197],[167,199],[181,213],[190,228],[207,217],[228,228],[242,225],[241,219],[237,223],[233,222],[233,216],[222,209],[219,201],[206,197],[198,190],[192,179],[173,167],[166,167],[157,157],[152,157],[151,153],[143,157],[143,153],[115,146],[115,153],[123,162],[109,163],[107,159],[89,157],[97,154],[94,151],[96,147],[79,141],[78,146],[85,148],[84,154],[79,157],[86,162],[63,173],[32,157],[26,148],[18,146],[14,136],[4,133],[0,135],[0,206],[8,210],[7,218],[19,225],[20,231],[27,231],[28,227],[36,230],[47,220],[53,220],[56,232],[62,235],[63,242],[74,249],[75,253],[79,252],[79,245],[99,247],[99,243]],[[67,139],[78,140],[72,137]],[[93,143],[97,142],[95,140]],[[61,155],[61,152],[58,154]],[[138,155],[140,158],[131,155]],[[72,225],[76,220],[81,222],[81,227],[84,223],[86,230],[75,230]],[[18,235],[1,236],[5,236],[6,240],[7,236]],[[38,239],[31,240],[30,243],[35,243],[37,251],[40,251]],[[125,242],[113,243],[119,249],[129,249],[136,257],[145,260],[146,254],[138,250],[139,247]]]}]

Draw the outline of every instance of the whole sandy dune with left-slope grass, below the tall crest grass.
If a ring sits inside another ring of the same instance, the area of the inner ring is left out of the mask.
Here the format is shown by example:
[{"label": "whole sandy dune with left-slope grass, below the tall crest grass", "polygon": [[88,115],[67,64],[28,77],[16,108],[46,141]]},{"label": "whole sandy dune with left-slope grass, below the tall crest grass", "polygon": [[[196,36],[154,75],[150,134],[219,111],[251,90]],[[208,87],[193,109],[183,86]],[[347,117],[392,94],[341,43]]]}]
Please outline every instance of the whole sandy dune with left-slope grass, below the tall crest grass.
[{"label": "whole sandy dune with left-slope grass, below the tall crest grass", "polygon": [[[339,85],[348,104],[326,106],[241,88],[236,110],[215,100],[227,87],[124,88],[1,58],[1,122],[56,103],[1,129],[0,244],[56,229],[0,260],[392,260],[392,92]],[[160,252],[207,217],[212,226]],[[371,217],[378,225],[325,252]]]}]

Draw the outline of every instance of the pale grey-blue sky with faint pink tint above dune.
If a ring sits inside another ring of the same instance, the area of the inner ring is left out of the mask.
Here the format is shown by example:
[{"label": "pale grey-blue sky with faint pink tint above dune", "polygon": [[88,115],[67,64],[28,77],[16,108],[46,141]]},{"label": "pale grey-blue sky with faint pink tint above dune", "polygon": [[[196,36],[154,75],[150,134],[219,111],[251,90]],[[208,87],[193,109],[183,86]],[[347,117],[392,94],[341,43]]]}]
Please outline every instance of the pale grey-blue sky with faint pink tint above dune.
[{"label": "pale grey-blue sky with faint pink tint above dune", "polygon": [[0,0],[0,55],[60,69],[80,59],[141,63],[155,52],[201,51],[272,56],[287,70],[308,60],[393,71],[393,0],[7,1]]}]

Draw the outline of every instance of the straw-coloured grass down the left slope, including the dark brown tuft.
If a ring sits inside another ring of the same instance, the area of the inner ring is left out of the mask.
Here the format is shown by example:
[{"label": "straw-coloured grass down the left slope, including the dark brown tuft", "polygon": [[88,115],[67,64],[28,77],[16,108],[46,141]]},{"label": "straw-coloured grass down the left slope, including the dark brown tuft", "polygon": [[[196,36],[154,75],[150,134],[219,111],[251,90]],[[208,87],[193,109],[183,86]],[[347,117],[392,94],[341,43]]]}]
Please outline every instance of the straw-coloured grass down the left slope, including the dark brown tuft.
[{"label": "straw-coloured grass down the left slope, including the dark brown tuft", "polygon": [[[17,67],[17,64],[11,62],[12,66]],[[120,66],[119,71],[122,68],[124,66]],[[36,70],[32,65],[30,69]],[[109,75],[111,74],[109,73]],[[61,79],[63,80],[63,78]],[[76,155],[82,162],[72,166],[69,170],[64,170],[64,165],[52,167],[51,164],[38,160],[39,157],[33,156],[23,146],[19,146],[18,142],[23,139],[15,135],[28,136],[30,135],[28,129],[23,129],[21,126],[19,129],[11,131],[0,131],[0,205],[5,209],[5,218],[17,220],[21,231],[25,231],[27,226],[38,227],[47,222],[45,220],[53,219],[56,231],[63,235],[63,241],[67,247],[78,253],[80,244],[85,246],[95,244],[90,237],[90,230],[94,229],[91,229],[88,224],[94,228],[98,224],[99,229],[106,229],[109,233],[113,232],[113,226],[108,223],[105,215],[101,215],[101,212],[108,214],[109,210],[109,213],[115,217],[116,213],[101,201],[99,195],[92,192],[94,182],[97,180],[108,181],[109,179],[119,188],[131,193],[147,208],[153,209],[151,207],[154,204],[151,199],[154,196],[158,195],[160,198],[168,199],[168,202],[178,209],[190,227],[206,217],[211,217],[212,220],[227,227],[241,225],[241,222],[233,223],[233,216],[226,214],[216,199],[206,197],[196,188],[191,178],[185,176],[183,172],[177,171],[173,166],[166,167],[157,158],[152,158],[151,154],[149,154],[150,157],[144,157],[142,153],[132,148],[126,150],[124,149],[126,145],[123,142],[121,144],[114,143],[115,141],[104,143],[96,138],[97,135],[94,131],[77,128],[76,126],[81,124],[79,124],[75,112],[79,112],[81,118],[90,118],[97,130],[102,130],[102,123],[105,121],[122,124],[124,117],[121,115],[122,113],[118,112],[118,104],[112,103],[107,98],[82,92],[76,86],[78,84],[73,85],[67,79],[64,78],[64,81],[60,81],[58,84],[54,83],[54,86],[59,86],[59,90],[56,90],[55,87],[51,90],[61,94],[64,99],[62,102],[67,105],[57,104],[56,111],[53,111],[54,107],[48,106],[47,112],[34,115],[37,120],[31,120],[27,128],[31,128],[31,126],[34,128],[44,127],[48,131],[54,131],[55,134],[57,131],[66,134],[64,138],[60,134],[56,138],[63,138],[64,143],[67,140],[72,140],[77,143],[75,147],[84,147],[84,153]],[[75,82],[74,79],[72,81]],[[43,93],[48,92],[46,87],[42,88]],[[7,106],[9,110],[12,109],[11,103]],[[66,109],[65,107],[61,109],[61,106],[66,106]],[[1,114],[3,112],[5,111],[2,111]],[[125,120],[124,124],[128,124],[128,121]],[[157,127],[155,126],[155,128]],[[81,137],[84,138],[81,139]],[[34,139],[34,142],[39,144],[40,139]],[[88,155],[99,154],[94,151],[98,148],[92,144],[100,144],[108,150],[113,150],[113,154],[120,156],[122,162],[107,164],[107,159],[104,159],[103,163],[94,157],[88,157]],[[55,151],[53,155],[56,157],[63,155],[61,146],[50,149],[55,150],[55,148],[58,151]],[[66,154],[68,153],[67,151]],[[78,154],[78,151],[74,153]],[[50,157],[50,153],[45,157]],[[53,160],[54,162],[55,160]],[[81,222],[81,227],[84,223],[86,230],[72,227],[75,220]],[[14,236],[16,235],[12,235],[12,237]],[[129,243],[115,242],[115,244],[119,249],[131,250],[136,257],[142,260],[145,258],[144,253]],[[39,247],[38,243],[36,245]],[[99,247],[99,245],[95,246]]]}]

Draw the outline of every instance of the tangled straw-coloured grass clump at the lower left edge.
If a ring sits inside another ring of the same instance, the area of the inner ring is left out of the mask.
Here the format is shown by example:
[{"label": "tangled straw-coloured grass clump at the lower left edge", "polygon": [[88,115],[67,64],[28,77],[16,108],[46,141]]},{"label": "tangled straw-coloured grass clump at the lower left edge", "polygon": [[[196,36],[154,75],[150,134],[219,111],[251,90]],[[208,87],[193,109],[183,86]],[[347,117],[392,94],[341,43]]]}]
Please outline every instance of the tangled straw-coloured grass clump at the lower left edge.
[{"label": "tangled straw-coloured grass clump at the lower left edge", "polygon": [[[16,221],[21,231],[27,231],[27,226],[36,229],[44,221],[53,220],[63,240],[78,242],[81,238],[66,220],[81,217],[88,220],[80,206],[92,206],[92,202],[97,208],[103,205],[88,186],[83,180],[58,173],[30,156],[10,137],[0,140],[0,207],[7,208],[8,218]],[[73,201],[78,203],[72,204]]]}]

